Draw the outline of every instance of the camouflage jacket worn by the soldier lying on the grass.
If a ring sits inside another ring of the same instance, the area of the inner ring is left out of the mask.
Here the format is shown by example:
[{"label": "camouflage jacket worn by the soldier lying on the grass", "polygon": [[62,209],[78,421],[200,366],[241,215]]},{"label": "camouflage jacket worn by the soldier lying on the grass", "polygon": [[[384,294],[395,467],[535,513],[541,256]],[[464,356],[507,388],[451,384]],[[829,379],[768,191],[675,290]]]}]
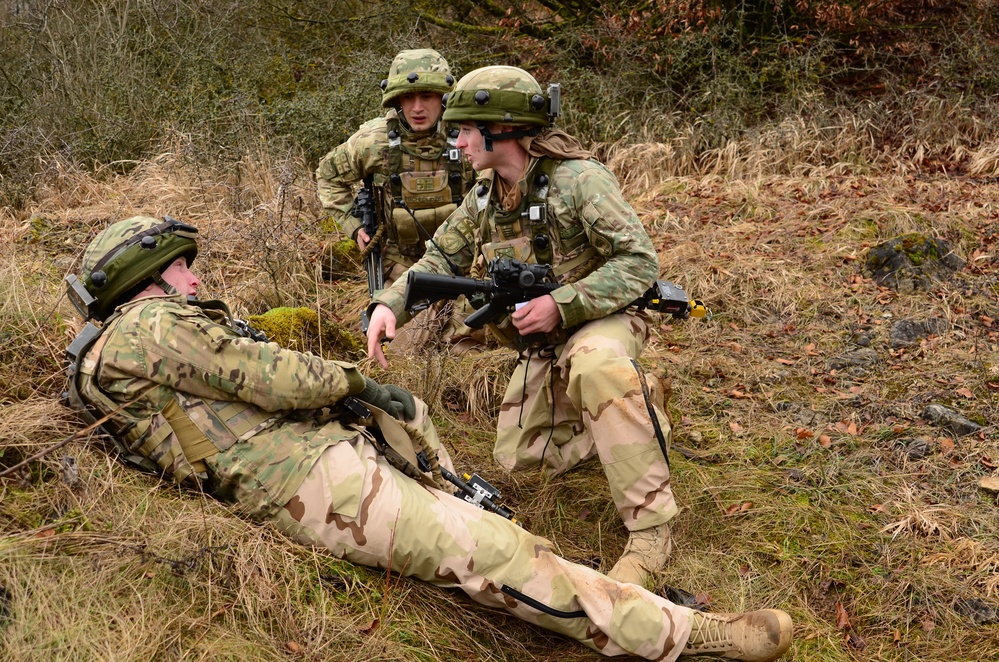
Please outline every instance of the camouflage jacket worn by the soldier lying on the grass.
[{"label": "camouflage jacket worn by the soldier lying on the grass", "polygon": [[216,496],[268,517],[324,449],[357,436],[326,408],[364,388],[354,366],[244,338],[179,295],[119,312],[84,359],[83,379],[128,403],[118,436],[166,476],[190,478],[201,460]]}]

